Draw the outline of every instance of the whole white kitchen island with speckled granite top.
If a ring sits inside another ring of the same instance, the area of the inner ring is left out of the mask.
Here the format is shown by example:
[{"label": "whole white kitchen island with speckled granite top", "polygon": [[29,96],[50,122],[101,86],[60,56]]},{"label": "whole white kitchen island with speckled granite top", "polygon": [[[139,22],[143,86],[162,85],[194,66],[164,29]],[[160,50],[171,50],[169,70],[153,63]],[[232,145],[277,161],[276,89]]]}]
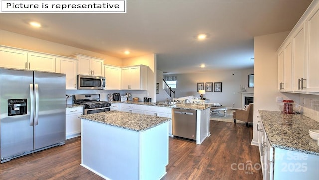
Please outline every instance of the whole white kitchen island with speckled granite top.
[{"label": "whole white kitchen island with speckled granite top", "polygon": [[170,118],[107,111],[80,116],[81,165],[105,179],[160,180]]}]

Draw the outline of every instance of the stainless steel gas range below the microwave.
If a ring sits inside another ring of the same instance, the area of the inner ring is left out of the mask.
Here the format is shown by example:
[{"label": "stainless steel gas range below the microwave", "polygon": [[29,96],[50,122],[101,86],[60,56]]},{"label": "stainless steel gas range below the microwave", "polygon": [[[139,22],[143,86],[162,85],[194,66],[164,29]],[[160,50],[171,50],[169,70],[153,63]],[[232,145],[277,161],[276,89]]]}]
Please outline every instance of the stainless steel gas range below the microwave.
[{"label": "stainless steel gas range below the microwave", "polygon": [[73,95],[73,103],[84,105],[83,114],[110,111],[111,103],[100,101],[100,94]]}]

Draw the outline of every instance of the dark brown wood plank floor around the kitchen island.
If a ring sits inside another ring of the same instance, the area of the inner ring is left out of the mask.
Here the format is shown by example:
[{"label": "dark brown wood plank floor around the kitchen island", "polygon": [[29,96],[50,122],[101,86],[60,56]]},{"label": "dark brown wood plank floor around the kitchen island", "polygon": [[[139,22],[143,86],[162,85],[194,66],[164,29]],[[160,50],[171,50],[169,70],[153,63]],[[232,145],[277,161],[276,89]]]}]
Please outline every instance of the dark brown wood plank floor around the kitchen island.
[{"label": "dark brown wood plank floor around the kitchen island", "polygon": [[[169,138],[169,165],[162,180],[262,180],[252,127],[211,121],[211,136],[201,145]],[[81,139],[0,164],[0,180],[102,180],[80,166]],[[247,167],[247,168],[245,168]],[[256,166],[257,167],[257,166]],[[124,170],[125,171],[125,170]]]}]

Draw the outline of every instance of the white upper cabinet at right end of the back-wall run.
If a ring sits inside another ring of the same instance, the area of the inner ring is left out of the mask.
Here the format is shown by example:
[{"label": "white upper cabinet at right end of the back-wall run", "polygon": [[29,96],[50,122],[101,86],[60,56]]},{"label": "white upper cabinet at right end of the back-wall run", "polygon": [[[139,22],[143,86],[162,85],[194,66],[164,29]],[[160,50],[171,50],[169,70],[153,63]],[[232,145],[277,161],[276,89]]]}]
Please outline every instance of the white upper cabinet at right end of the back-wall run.
[{"label": "white upper cabinet at right end of the back-wall run", "polygon": [[147,90],[148,67],[144,65],[121,69],[122,90]]}]

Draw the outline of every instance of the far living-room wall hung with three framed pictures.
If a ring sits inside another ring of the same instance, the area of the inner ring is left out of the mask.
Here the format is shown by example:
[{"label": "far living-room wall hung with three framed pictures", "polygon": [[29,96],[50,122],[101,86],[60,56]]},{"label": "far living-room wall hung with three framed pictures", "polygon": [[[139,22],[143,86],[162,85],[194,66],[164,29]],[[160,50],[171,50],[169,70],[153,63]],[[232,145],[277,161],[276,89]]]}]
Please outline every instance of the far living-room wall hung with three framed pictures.
[{"label": "far living-room wall hung with three framed pictures", "polygon": [[[223,106],[241,107],[240,85],[248,87],[248,75],[253,74],[254,69],[234,70],[234,71],[212,71],[193,74],[176,74],[177,88],[175,97],[193,95],[199,97],[197,83],[222,82],[222,92],[206,92],[204,97],[210,102],[220,103]],[[234,74],[234,75],[233,75]],[[254,88],[247,88],[247,92],[253,92]]]}]

